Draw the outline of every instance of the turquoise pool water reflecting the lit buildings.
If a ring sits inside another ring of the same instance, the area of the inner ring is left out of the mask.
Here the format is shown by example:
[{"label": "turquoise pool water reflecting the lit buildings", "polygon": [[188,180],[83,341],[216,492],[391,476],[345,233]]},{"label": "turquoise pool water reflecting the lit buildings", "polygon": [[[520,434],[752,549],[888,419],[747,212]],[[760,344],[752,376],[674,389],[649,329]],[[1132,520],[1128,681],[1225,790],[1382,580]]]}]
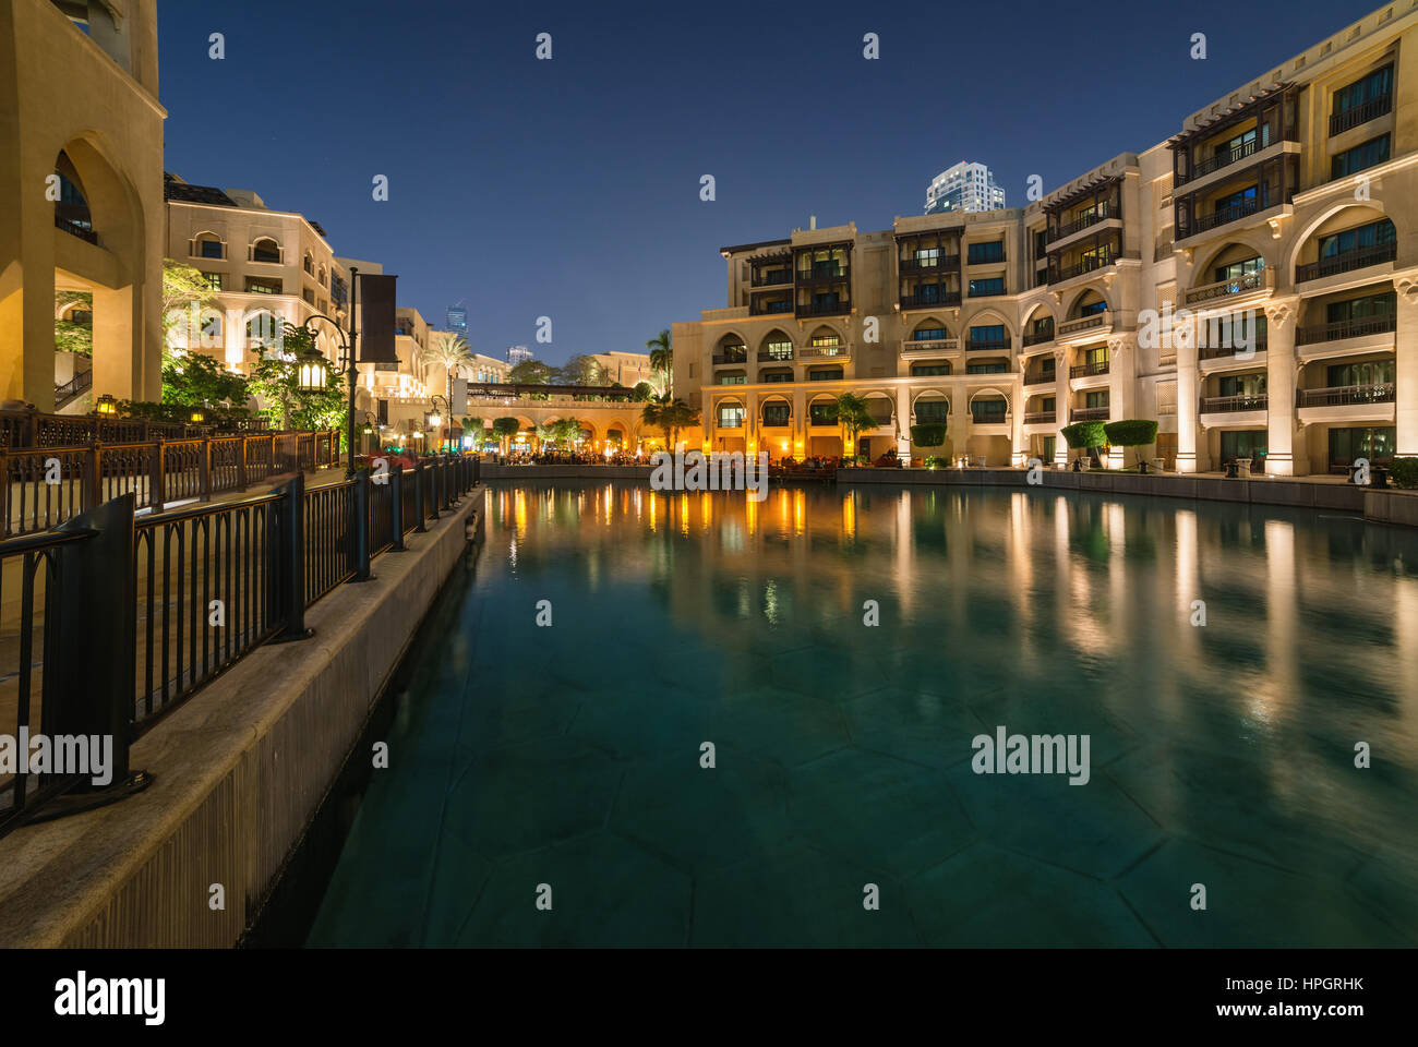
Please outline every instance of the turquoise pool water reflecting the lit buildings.
[{"label": "turquoise pool water reflecting the lit buildings", "polygon": [[[311,945],[1418,942],[1415,532],[988,488],[486,509]],[[1086,735],[1088,782],[976,773],[997,726]]]}]

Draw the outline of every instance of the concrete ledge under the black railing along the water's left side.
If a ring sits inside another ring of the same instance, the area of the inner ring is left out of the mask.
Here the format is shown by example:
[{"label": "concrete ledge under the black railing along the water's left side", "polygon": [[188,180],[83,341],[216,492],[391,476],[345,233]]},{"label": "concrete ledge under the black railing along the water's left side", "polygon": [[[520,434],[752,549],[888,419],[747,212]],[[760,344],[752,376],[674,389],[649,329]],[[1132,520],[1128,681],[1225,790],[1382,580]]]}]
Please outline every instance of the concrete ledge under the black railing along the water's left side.
[{"label": "concrete ledge under the black railing along the water's left side", "polygon": [[234,945],[464,555],[482,489],[315,604],[315,637],[252,651],[139,739],[149,789],[0,841],[0,946]]}]

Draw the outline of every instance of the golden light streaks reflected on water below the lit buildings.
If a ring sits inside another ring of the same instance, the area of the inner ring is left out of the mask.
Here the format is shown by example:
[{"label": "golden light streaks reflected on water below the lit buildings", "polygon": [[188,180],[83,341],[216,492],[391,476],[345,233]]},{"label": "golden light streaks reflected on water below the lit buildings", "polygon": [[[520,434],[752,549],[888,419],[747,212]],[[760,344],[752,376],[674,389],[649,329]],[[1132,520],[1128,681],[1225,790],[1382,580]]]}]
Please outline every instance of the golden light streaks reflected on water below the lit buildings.
[{"label": "golden light streaks reflected on water below the lit buildings", "polygon": [[[627,576],[669,582],[669,619],[688,630],[727,627],[705,596],[722,585],[730,621],[861,623],[862,602],[875,599],[883,643],[902,630],[939,634],[942,650],[1031,674],[1056,671],[1061,650],[1095,665],[1146,657],[1166,667],[1140,699],[1160,715],[1185,718],[1198,688],[1221,688],[1258,732],[1283,729],[1316,675],[1418,694],[1418,548],[1407,532],[1256,506],[1021,491],[813,485],[776,487],[769,499],[498,489],[488,504],[510,543],[489,548],[518,558],[519,572],[553,546],[581,559],[594,549],[586,570],[603,589]],[[583,509],[594,526],[577,528]],[[1364,552],[1375,542],[1392,550]],[[1191,624],[1197,600],[1204,627]],[[984,634],[983,610],[994,623]],[[1332,630],[1316,634],[1319,621]],[[1307,678],[1300,667],[1316,658]],[[1390,724],[1418,760],[1414,702],[1395,701]]]}]

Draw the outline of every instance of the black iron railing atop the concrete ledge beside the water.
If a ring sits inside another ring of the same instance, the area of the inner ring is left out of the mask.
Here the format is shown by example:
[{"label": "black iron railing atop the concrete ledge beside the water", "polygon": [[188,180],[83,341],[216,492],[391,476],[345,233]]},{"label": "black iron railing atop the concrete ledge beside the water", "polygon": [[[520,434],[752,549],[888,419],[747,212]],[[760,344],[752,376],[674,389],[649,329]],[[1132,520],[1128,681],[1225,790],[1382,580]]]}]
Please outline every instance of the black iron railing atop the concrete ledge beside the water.
[{"label": "black iron railing atop the concrete ledge beside the water", "polygon": [[[264,643],[309,636],[305,611],[452,508],[479,480],[472,457],[360,470],[305,489],[135,519],[132,491],[54,531],[0,542],[0,726],[128,745]],[[14,594],[11,587],[17,587]],[[82,776],[0,776],[0,834]],[[67,803],[67,800],[65,800]]]}]

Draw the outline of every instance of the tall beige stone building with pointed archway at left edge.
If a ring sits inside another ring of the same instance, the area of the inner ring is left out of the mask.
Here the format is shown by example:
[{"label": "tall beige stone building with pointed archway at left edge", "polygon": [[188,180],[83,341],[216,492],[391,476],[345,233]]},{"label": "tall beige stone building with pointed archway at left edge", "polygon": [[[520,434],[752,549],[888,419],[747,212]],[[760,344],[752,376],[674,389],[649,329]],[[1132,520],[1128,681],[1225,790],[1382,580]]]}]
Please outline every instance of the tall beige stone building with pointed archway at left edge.
[{"label": "tall beige stone building with pointed archway at left edge", "polygon": [[[0,383],[52,410],[55,291],[94,295],[94,392],[162,382],[155,0],[0,0]],[[60,72],[62,71],[62,74]]]}]

